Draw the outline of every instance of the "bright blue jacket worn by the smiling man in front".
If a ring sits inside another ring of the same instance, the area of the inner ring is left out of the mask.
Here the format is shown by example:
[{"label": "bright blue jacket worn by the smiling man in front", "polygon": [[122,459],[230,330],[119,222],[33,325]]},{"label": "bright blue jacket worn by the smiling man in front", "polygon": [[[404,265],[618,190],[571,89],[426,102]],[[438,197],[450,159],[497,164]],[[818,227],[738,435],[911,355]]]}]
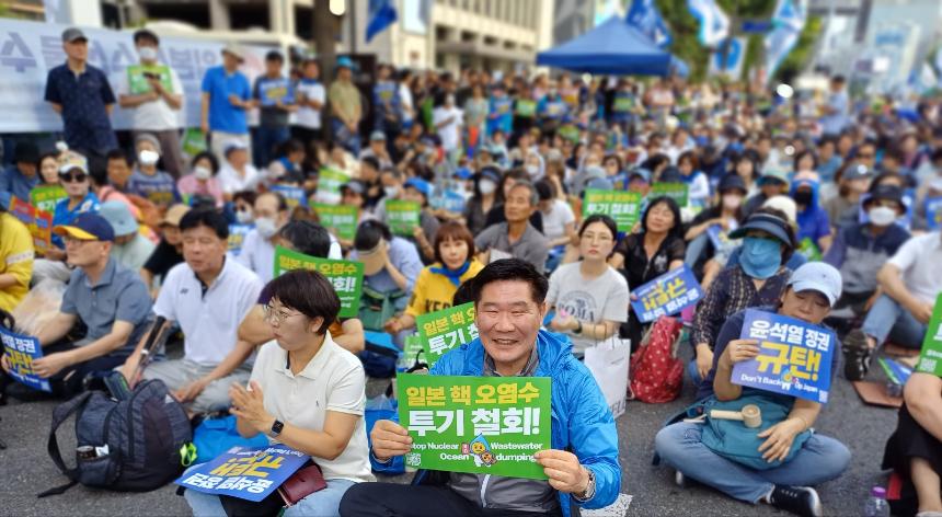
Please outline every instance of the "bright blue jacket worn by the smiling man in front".
[{"label": "bright blue jacket worn by the smiling man in front", "polygon": [[[621,490],[621,467],[618,463],[618,432],[614,418],[591,372],[572,354],[568,340],[547,331],[537,336],[539,364],[533,377],[552,379],[553,449],[570,449],[579,463],[595,473],[595,495],[579,503],[560,492],[560,507],[570,517],[570,505],[601,508],[614,503]],[[444,356],[432,368],[432,375],[484,375],[484,346],[476,338]],[[421,483],[422,473],[416,475]]]}]

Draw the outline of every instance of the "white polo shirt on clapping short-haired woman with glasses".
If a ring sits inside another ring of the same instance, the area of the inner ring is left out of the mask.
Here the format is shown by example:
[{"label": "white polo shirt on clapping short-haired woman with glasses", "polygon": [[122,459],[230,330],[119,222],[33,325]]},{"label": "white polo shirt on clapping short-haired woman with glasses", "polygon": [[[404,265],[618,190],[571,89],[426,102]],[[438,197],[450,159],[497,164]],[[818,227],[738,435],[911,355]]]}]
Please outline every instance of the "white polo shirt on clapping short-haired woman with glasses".
[{"label": "white polo shirt on clapping short-haired woman with glasses", "polygon": [[359,416],[346,449],[333,460],[314,461],[325,480],[374,481],[363,418],[366,375],[359,359],[334,343],[330,332],[321,349],[297,376],[291,374],[288,353],[275,341],[265,343],[255,358],[251,380],[262,386],[265,411],[286,424],[323,432],[328,411]]}]

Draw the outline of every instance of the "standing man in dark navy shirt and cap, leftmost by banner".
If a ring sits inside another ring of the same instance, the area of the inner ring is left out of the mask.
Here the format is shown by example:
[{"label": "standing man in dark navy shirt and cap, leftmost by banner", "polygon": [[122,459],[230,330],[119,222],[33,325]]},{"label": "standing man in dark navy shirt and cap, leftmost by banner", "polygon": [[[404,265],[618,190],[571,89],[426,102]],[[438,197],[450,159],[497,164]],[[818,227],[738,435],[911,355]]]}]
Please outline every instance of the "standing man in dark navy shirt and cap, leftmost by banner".
[{"label": "standing man in dark navy shirt and cap, leftmost by banner", "polygon": [[45,100],[62,116],[69,149],[97,162],[117,147],[111,115],[115,95],[102,70],[89,65],[89,38],[81,30],[62,32],[66,62],[49,70]]}]

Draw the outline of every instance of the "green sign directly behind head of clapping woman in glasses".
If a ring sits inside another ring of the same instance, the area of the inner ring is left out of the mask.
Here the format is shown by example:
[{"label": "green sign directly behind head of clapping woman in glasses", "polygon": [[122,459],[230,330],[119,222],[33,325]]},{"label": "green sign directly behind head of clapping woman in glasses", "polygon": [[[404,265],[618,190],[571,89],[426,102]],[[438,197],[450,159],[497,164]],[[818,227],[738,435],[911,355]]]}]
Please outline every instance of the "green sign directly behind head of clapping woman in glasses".
[{"label": "green sign directly behind head of clapping woman in glasses", "polygon": [[275,248],[275,276],[292,269],[313,269],[328,277],[341,299],[340,318],[356,318],[363,291],[363,263],[332,261],[306,255],[282,246]]}]

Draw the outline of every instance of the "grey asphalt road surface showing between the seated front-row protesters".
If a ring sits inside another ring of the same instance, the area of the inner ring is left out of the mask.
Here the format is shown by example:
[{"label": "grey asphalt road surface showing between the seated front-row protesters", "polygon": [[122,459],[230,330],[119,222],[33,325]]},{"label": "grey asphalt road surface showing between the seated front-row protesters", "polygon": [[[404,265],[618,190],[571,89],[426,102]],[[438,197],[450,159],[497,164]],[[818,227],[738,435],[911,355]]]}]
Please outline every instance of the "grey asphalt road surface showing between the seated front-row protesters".
[{"label": "grey asphalt road surface showing between the seated front-row protesters", "polygon": [[[669,415],[682,410],[693,398],[685,379],[683,394],[668,404],[631,402],[618,420],[619,456],[622,467],[622,492],[634,498],[631,516],[756,516],[786,515],[767,505],[747,505],[725,497],[704,486],[679,489],[674,472],[652,467],[654,435]],[[149,493],[119,493],[74,486],[64,495],[42,499],[36,494],[64,484],[46,452],[49,423],[55,402],[21,403],[12,400],[0,407],[0,439],[8,449],[0,450],[0,515],[2,516],[183,516],[189,515],[175,485]],[[845,379],[837,379],[831,402],[818,420],[819,433],[840,438],[853,459],[838,480],[818,486],[827,515],[855,516],[866,501],[871,486],[884,484],[886,473],[880,462],[886,439],[896,425],[896,410],[864,405]],[[74,448],[71,421],[60,429],[60,446]],[[71,439],[71,443],[70,443]],[[69,458],[71,459],[71,458]],[[68,459],[67,459],[68,461]],[[722,473],[717,472],[717,475]],[[407,481],[399,476],[395,481]]]}]

